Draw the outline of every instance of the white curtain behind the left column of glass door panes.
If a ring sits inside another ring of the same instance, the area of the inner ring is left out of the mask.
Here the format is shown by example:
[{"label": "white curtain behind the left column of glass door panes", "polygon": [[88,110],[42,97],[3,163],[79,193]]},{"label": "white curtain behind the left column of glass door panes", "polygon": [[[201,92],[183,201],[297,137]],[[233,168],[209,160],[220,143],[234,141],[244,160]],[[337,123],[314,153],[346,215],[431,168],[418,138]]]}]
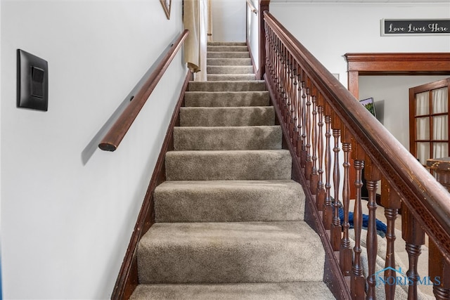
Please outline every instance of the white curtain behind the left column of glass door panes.
[{"label": "white curtain behind the left column of glass door panes", "polygon": [[[416,94],[416,115],[430,114],[430,93],[428,91]],[[416,139],[430,139],[430,117],[416,118]],[[417,143],[417,158],[425,164],[430,158],[430,143]]]}]

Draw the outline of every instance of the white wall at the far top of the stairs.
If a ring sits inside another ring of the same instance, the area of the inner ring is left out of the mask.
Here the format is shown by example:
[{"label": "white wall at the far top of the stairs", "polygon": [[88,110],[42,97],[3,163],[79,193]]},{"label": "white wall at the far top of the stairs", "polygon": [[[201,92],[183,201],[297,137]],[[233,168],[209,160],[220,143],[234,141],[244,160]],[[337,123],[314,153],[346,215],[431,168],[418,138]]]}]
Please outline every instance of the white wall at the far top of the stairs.
[{"label": "white wall at the far top of the stairs", "polygon": [[245,41],[246,0],[212,0],[212,40]]}]

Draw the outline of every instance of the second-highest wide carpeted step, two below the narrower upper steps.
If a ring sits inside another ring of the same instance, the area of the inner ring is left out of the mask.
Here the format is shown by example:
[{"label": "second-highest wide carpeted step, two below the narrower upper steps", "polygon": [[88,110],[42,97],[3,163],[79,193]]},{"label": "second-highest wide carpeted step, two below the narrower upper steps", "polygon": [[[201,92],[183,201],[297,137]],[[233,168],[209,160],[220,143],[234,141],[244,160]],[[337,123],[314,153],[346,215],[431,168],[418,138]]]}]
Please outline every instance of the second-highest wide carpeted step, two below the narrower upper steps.
[{"label": "second-highest wide carpeted step, two below the narrower upper steps", "polygon": [[269,91],[187,91],[184,94],[186,107],[267,106],[269,103]]}]

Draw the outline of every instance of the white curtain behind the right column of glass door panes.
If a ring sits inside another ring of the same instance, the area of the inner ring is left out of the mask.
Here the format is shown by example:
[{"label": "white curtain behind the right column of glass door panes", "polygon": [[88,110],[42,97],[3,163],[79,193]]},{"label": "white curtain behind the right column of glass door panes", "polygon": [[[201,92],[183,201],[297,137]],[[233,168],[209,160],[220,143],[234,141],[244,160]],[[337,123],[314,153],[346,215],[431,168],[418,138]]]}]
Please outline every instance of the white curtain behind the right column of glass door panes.
[{"label": "white curtain behind the right column of glass door panes", "polygon": [[[432,113],[439,114],[449,111],[448,88],[435,89],[432,91]],[[447,115],[433,117],[432,135],[434,140],[448,140],[449,139],[449,118]],[[448,143],[434,143],[433,144],[433,158],[448,157],[449,145]]]}]

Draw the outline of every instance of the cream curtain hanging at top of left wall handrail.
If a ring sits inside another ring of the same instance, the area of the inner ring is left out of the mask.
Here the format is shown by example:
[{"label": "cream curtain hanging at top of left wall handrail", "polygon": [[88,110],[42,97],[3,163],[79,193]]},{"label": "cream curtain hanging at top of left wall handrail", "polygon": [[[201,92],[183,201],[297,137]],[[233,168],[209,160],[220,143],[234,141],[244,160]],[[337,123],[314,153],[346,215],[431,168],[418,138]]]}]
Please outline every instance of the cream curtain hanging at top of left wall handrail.
[{"label": "cream curtain hanging at top of left wall handrail", "polygon": [[184,44],[184,60],[194,72],[195,81],[207,80],[206,52],[209,26],[210,0],[184,0],[184,28],[189,35]]}]

